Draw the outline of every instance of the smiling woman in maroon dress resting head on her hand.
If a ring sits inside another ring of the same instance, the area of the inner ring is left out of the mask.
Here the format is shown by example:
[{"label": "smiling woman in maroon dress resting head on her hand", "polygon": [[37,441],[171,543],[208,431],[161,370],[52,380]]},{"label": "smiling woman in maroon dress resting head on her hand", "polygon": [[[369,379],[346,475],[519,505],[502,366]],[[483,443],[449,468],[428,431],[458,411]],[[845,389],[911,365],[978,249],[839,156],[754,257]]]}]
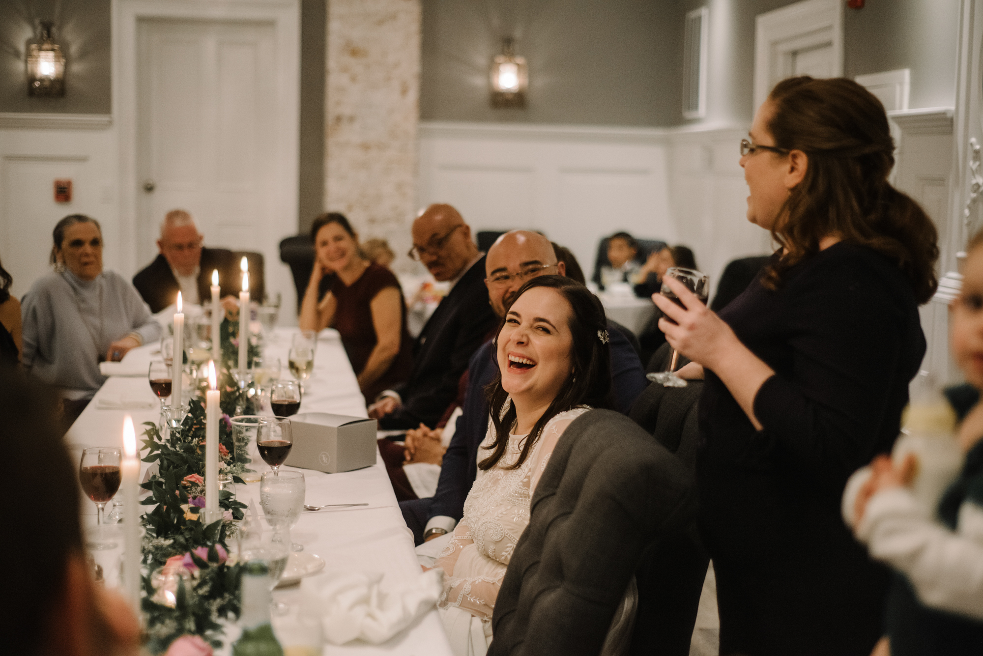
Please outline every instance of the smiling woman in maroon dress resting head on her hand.
[{"label": "smiling woman in maroon dress resting head on her hand", "polygon": [[[337,212],[321,214],[311,228],[317,255],[301,304],[300,327],[331,326],[358,376],[366,404],[406,380],[413,366],[406,304],[396,276],[362,256],[358,235]],[[321,279],[334,280],[318,299]]]}]

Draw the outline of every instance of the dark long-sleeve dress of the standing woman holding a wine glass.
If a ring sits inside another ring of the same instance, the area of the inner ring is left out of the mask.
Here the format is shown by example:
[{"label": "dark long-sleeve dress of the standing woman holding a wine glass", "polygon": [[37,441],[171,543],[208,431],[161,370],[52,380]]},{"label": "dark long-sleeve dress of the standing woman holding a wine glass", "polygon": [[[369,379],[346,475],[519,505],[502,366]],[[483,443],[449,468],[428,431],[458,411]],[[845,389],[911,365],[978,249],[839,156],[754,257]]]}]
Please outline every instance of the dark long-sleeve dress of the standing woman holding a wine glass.
[{"label": "dark long-sleeve dress of the standing woman holding a wine glass", "polygon": [[720,314],[776,375],[755,430],[712,371],[700,401],[700,528],[717,574],[721,653],[867,656],[889,574],[839,515],[849,475],[896,439],[925,353],[907,279],[870,248],[760,279]]}]

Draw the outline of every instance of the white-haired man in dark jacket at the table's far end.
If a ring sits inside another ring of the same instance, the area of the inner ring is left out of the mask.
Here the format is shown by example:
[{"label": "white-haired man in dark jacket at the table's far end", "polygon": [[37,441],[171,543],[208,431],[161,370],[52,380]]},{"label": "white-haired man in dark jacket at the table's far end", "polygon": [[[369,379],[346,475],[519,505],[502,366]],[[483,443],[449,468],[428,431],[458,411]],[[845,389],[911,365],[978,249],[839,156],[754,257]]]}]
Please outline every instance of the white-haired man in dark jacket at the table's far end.
[{"label": "white-haired man in dark jacket at the table's far end", "polygon": [[179,291],[186,303],[201,304],[210,299],[211,272],[215,269],[222,298],[239,293],[242,279],[232,251],[205,248],[203,239],[191,214],[183,209],[167,212],[157,240],[160,254],[133,277],[134,287],[151,312],[172,304]]}]

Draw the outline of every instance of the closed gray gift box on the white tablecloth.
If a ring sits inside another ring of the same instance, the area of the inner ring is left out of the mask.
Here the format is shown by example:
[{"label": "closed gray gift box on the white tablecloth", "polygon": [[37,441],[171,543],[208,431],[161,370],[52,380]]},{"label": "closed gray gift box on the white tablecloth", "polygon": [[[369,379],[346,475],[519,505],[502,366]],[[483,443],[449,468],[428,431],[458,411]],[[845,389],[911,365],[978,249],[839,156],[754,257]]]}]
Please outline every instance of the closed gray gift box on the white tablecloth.
[{"label": "closed gray gift box on the white tablecloth", "polygon": [[294,446],[284,465],[337,473],[376,464],[376,419],[302,412],[290,424]]}]

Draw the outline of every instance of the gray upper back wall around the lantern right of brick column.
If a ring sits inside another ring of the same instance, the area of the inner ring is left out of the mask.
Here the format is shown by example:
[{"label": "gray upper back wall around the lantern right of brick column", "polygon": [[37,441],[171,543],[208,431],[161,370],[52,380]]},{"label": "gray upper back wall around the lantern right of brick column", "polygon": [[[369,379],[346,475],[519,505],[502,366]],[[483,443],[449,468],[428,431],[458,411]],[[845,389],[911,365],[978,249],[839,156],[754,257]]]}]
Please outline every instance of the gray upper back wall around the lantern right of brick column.
[{"label": "gray upper back wall around the lantern right of brick column", "polygon": [[[423,0],[420,118],[655,126],[680,77],[674,0]],[[680,19],[681,21],[681,19]],[[681,23],[680,23],[681,25]],[[489,67],[501,39],[529,61],[528,107],[493,109]]]}]

